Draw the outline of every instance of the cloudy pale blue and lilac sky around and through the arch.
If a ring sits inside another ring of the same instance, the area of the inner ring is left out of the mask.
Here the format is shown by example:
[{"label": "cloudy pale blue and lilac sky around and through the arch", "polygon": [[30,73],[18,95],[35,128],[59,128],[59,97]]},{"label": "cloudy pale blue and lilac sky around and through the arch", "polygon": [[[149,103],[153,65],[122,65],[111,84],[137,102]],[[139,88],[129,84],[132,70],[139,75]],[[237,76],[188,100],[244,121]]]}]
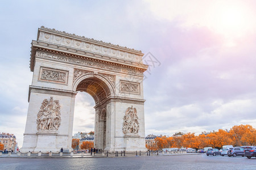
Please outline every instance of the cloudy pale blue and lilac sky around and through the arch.
[{"label": "cloudy pale blue and lilac sky around and through the arch", "polygon": [[[0,132],[22,146],[31,41],[42,25],[142,50],[146,135],[255,128],[255,8],[253,0],[0,0]],[[77,95],[73,133],[94,130],[94,105]]]}]

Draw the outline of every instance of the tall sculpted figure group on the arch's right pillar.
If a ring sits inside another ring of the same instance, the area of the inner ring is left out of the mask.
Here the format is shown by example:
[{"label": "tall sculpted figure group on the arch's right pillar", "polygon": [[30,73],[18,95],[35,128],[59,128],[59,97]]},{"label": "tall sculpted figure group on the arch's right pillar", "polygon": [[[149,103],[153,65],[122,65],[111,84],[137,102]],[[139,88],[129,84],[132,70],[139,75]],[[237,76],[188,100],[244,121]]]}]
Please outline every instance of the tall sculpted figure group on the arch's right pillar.
[{"label": "tall sculpted figure group on the arch's right pillar", "polygon": [[137,116],[137,109],[133,106],[129,107],[125,111],[125,116],[123,117],[123,133],[134,133],[139,132],[139,118]]}]

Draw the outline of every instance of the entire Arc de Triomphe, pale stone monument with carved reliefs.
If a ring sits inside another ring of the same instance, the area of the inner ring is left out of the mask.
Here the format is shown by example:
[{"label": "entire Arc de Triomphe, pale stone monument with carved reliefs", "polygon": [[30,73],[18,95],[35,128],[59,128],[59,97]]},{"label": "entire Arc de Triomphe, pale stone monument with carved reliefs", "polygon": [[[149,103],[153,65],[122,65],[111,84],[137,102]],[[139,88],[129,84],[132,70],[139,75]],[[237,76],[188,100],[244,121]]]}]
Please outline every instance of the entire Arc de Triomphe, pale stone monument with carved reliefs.
[{"label": "entire Arc de Triomphe, pale stone monument with carved reliefs", "polygon": [[143,53],[41,27],[32,41],[28,113],[20,151],[72,150],[77,92],[95,105],[94,147],[145,151]]}]

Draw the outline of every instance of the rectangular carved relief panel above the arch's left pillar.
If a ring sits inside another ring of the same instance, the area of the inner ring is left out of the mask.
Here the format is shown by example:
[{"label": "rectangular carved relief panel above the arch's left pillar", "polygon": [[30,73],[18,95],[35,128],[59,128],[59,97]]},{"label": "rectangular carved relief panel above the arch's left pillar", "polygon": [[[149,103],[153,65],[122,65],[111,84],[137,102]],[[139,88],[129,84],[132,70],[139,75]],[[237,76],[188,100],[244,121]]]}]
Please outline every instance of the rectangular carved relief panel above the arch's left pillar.
[{"label": "rectangular carved relief panel above the arch's left pillar", "polygon": [[68,83],[68,71],[40,68],[39,80],[47,82]]}]

